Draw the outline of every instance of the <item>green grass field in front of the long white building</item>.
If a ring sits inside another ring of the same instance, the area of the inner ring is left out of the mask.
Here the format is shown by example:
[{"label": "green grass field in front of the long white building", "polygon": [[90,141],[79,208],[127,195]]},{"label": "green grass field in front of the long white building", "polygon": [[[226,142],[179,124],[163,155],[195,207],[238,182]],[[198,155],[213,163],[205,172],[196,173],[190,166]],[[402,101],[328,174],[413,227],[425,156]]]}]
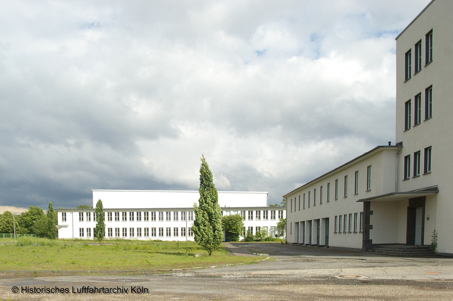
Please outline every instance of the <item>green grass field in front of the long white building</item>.
[{"label": "green grass field in front of the long white building", "polygon": [[[202,256],[194,257],[196,253]],[[230,256],[223,247],[209,257],[194,242],[105,241],[103,245],[89,245],[86,241],[20,238],[16,244],[0,245],[0,271],[141,271],[252,263],[259,259]]]}]

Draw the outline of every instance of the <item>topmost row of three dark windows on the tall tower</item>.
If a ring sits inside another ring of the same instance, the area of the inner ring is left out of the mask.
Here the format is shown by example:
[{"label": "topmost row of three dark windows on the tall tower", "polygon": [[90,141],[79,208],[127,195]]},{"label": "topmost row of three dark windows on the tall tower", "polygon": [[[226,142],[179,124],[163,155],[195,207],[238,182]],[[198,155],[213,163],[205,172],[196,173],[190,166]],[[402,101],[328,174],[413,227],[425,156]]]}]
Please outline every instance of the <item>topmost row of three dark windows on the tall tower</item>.
[{"label": "topmost row of three dark windows on the tall tower", "polygon": [[[420,39],[414,45],[414,74],[421,71],[422,67],[422,40]],[[433,61],[433,30],[425,35],[425,66]],[[412,77],[412,49],[404,54],[404,80]]]}]

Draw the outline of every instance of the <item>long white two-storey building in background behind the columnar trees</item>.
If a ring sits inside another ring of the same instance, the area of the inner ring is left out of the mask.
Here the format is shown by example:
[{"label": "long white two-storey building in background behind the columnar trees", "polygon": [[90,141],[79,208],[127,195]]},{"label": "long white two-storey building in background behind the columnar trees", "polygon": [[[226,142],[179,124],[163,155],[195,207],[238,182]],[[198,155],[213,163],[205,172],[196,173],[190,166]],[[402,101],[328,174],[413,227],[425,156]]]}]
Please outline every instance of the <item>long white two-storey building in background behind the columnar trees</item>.
[{"label": "long white two-storey building in background behind the columnar trees", "polygon": [[[224,215],[240,214],[244,231],[276,234],[284,208],[267,207],[267,192],[219,191]],[[93,190],[93,207],[102,200],[107,239],[193,241],[193,204],[198,191]],[[93,239],[94,209],[58,209],[58,238]]]}]

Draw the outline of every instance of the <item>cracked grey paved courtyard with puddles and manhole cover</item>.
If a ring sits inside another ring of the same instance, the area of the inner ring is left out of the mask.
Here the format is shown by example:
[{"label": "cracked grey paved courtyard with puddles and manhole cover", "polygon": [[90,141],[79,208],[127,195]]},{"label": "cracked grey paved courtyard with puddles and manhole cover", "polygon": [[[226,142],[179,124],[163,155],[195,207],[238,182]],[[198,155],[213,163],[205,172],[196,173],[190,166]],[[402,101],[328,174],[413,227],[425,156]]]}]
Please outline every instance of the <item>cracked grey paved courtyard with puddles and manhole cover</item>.
[{"label": "cracked grey paved courtyard with puddles and manhole cover", "polygon": [[[236,256],[258,253],[269,259],[159,275],[2,274],[0,295],[4,300],[453,300],[453,258],[397,258],[275,243],[227,247]],[[88,286],[128,292],[90,293]],[[31,294],[20,291],[24,288],[68,293]]]}]

